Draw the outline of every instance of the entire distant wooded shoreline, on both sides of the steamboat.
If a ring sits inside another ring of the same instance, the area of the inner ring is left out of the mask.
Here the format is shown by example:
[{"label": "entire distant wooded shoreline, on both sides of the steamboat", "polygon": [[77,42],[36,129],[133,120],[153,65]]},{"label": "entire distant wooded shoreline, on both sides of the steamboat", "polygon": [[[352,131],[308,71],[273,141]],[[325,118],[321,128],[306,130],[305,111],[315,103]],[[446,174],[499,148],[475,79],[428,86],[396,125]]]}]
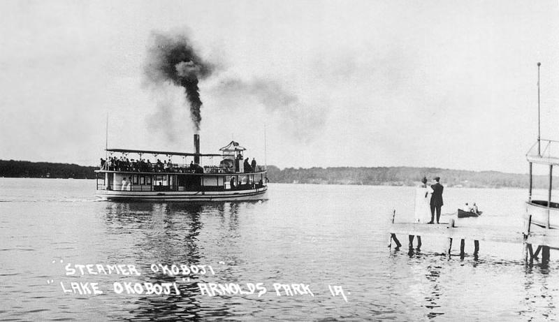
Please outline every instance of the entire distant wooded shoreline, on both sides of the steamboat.
[{"label": "entire distant wooded shoreline, on both sides of the steamboat", "polygon": [[[48,163],[0,160],[0,177],[51,177],[94,179],[95,167],[68,163]],[[423,176],[428,180],[441,177],[444,186],[471,188],[528,187],[528,175],[500,173],[497,171],[467,171],[440,168],[376,167],[376,168],[285,168],[268,166],[270,182],[300,184],[370,184],[390,186],[414,186]],[[544,189],[549,178],[535,176],[535,188]],[[554,177],[553,186],[559,187]]]}]

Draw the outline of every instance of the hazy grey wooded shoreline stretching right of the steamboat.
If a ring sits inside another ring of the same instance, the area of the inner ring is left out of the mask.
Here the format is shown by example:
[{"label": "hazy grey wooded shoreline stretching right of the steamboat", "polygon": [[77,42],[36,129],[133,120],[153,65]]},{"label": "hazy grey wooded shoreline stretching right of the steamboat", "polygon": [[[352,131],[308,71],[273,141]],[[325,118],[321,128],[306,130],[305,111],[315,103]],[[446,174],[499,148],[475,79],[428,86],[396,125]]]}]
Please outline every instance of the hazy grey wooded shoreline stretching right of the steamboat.
[{"label": "hazy grey wooded shoreline stretching right of the steamboat", "polygon": [[[440,168],[377,167],[377,168],[285,168],[279,170],[268,166],[270,182],[301,184],[371,184],[391,186],[414,186],[423,176],[429,181],[441,177],[444,186],[463,186],[471,188],[528,188],[528,175],[500,173],[497,171],[467,171]],[[559,187],[554,177],[553,186]],[[546,188],[549,178],[535,176],[535,188]]]}]

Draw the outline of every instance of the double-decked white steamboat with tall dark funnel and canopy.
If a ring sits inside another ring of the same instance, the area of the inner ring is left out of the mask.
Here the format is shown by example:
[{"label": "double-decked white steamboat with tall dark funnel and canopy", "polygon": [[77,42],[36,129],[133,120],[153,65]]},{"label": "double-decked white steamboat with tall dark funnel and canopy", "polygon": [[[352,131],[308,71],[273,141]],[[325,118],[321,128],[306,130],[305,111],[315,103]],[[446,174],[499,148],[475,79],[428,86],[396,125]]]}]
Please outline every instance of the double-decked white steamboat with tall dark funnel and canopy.
[{"label": "double-decked white steamboat with tall dark funnel and canopy", "polygon": [[[150,201],[266,199],[266,166],[243,159],[246,149],[238,142],[231,141],[217,154],[201,154],[200,136],[194,134],[194,150],[181,153],[106,148],[106,159],[101,159],[95,171],[96,196]],[[212,164],[216,159],[219,164]]]}]

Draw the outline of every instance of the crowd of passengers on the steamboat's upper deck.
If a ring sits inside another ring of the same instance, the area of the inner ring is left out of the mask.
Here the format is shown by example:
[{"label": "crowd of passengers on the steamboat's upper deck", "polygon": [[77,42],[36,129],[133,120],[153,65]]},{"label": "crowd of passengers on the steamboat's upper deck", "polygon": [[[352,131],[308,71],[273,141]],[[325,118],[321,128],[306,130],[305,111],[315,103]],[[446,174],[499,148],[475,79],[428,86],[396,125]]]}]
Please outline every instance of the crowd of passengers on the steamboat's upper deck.
[{"label": "crowd of passengers on the steamboat's upper deck", "polygon": [[[220,168],[220,170],[226,170],[227,173],[238,173],[239,163],[242,161],[242,154],[238,154],[235,159],[235,168]],[[213,167],[217,168],[217,167]],[[165,173],[204,173],[204,168],[200,165],[190,162],[190,166],[180,166],[168,161],[163,161],[157,159],[157,162],[152,163],[150,160],[145,159],[131,159],[121,156],[117,158],[112,156],[108,158],[108,161],[101,158],[101,170],[112,170],[112,171],[128,171],[128,172],[165,172]],[[210,168],[210,171],[213,169]],[[243,163],[244,173],[253,173],[257,170],[256,160],[252,158],[252,162],[249,163],[249,158],[245,159]]]}]

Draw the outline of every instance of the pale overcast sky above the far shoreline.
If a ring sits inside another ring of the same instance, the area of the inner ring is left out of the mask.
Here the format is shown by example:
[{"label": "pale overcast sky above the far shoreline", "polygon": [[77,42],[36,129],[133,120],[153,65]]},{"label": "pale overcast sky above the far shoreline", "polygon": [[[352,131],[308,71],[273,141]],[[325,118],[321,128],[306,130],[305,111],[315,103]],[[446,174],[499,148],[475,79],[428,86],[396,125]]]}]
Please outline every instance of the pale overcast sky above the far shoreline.
[{"label": "pale overcast sky above the far shoreline", "polygon": [[[183,89],[145,84],[154,32],[216,66],[201,149],[280,168],[526,173],[559,139],[558,1],[2,1],[0,159],[94,165],[109,147],[192,151]],[[165,108],[161,108],[161,102]]]}]

